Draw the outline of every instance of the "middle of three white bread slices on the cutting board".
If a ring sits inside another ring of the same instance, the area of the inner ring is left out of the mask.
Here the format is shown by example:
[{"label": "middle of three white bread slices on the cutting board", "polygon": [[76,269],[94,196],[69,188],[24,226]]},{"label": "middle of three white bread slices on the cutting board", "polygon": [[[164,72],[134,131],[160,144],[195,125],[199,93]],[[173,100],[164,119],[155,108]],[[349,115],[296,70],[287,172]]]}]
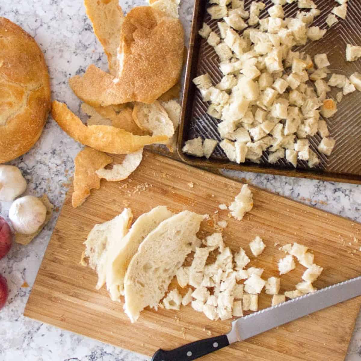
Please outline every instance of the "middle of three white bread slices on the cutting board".
[{"label": "middle of three white bread slices on the cutting board", "polygon": [[128,265],[144,238],[165,219],[173,216],[166,206],[158,206],[150,212],[142,214],[133,223],[128,234],[117,242],[109,252],[106,270],[106,288],[113,301],[124,295],[124,276]]}]

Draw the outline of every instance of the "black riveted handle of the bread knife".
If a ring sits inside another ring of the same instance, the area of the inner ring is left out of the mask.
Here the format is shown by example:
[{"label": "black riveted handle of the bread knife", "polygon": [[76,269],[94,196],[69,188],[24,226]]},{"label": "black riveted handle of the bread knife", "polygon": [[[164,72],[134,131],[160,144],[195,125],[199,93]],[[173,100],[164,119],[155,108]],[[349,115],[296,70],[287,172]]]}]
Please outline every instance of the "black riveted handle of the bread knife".
[{"label": "black riveted handle of the bread knife", "polygon": [[187,345],[165,351],[159,349],[152,357],[152,361],[188,361],[229,346],[226,335],[188,343]]}]

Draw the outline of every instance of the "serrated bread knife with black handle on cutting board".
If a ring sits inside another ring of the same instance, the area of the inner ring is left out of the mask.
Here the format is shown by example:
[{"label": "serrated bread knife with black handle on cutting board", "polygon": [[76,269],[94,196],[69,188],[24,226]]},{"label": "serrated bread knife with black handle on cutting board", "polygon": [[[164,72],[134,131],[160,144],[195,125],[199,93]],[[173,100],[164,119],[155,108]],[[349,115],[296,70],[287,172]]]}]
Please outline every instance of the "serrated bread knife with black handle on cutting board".
[{"label": "serrated bread knife with black handle on cutting board", "polygon": [[232,330],[226,335],[192,342],[170,351],[159,349],[153,355],[152,361],[195,360],[229,346],[231,343],[246,340],[274,327],[360,295],[361,277],[356,277],[238,318],[232,322]]}]

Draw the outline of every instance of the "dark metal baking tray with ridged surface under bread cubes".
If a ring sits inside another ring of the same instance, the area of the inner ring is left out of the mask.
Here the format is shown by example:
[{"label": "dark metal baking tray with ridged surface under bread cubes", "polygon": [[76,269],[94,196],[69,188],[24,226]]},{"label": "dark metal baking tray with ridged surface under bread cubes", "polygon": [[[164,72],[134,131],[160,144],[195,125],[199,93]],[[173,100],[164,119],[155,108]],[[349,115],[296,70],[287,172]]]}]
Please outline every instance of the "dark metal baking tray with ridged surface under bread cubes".
[{"label": "dark metal baking tray with ridged surface under bread cubes", "polygon": [[[261,12],[260,18],[267,17],[267,9],[273,5],[270,0],[264,2],[266,8]],[[325,20],[332,8],[339,4],[331,0],[315,0],[314,2],[321,10],[321,15],[316,17],[312,26],[316,25],[328,30],[323,39],[317,42],[308,42],[297,50],[305,51],[311,56],[327,53],[332,72],[347,76],[355,71],[361,72],[361,60],[347,62],[345,59],[347,43],[361,45],[361,0],[349,1],[346,20],[340,19],[331,28],[327,26]],[[245,9],[248,10],[251,3],[251,0],[246,0]],[[260,164],[246,162],[239,165],[230,162],[219,145],[209,160],[182,153],[184,142],[188,139],[200,136],[202,139],[222,140],[217,131],[217,124],[221,120],[212,118],[206,113],[208,104],[203,102],[200,92],[192,83],[193,78],[206,72],[210,74],[214,84],[217,84],[222,78],[218,66],[218,56],[214,49],[206,43],[206,40],[198,35],[198,30],[202,27],[203,22],[206,22],[219,35],[217,20],[211,20],[206,12],[208,6],[210,6],[208,1],[195,0],[177,147],[182,161],[198,167],[224,168],[361,184],[361,93],[358,91],[345,96],[343,101],[338,104],[336,115],[327,120],[330,136],[336,139],[336,146],[330,157],[318,152],[317,145],[321,141],[318,134],[309,139],[311,149],[317,153],[321,160],[316,168],[311,169],[307,162],[298,161],[295,169],[285,159],[271,165],[267,161],[267,151],[263,153]],[[295,17],[297,11],[300,10],[297,8],[297,1],[285,5],[283,8],[285,16],[291,17]],[[333,88],[329,94],[335,99],[338,91],[339,89]]]}]

